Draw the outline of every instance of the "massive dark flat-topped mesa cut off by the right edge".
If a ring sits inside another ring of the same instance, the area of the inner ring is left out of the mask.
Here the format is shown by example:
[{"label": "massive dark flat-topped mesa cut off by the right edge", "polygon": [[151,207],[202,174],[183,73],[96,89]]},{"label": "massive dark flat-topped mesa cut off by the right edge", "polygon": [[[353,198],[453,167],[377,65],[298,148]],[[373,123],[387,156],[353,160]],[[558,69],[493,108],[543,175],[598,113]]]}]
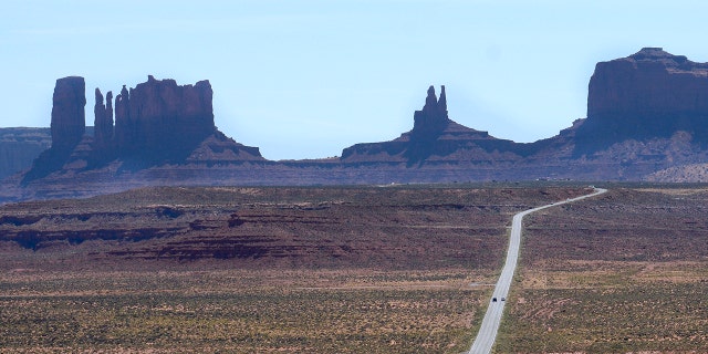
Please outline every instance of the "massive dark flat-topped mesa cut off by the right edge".
[{"label": "massive dark flat-topped mesa cut off by the right edge", "polygon": [[678,131],[708,142],[708,64],[659,48],[601,62],[590,80],[587,121],[575,155],[627,139],[667,138]]}]

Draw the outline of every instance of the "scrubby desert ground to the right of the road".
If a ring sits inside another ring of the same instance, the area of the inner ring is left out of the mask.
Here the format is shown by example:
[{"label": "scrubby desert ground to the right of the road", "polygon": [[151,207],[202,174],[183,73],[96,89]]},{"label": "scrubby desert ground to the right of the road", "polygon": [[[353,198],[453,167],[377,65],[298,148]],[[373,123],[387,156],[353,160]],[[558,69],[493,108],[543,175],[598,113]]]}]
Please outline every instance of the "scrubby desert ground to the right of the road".
[{"label": "scrubby desert ground to the right of the road", "polygon": [[708,189],[613,189],[525,220],[497,353],[702,353]]}]

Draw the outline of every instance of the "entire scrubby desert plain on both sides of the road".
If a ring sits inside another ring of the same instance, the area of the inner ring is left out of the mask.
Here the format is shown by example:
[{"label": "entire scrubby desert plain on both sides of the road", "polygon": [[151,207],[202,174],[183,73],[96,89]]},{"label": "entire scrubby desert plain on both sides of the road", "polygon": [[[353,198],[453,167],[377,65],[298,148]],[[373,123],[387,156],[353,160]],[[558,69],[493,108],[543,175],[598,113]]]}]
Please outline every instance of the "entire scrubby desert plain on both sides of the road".
[{"label": "entire scrubby desert plain on both sides of the road", "polygon": [[[701,353],[708,187],[524,218],[494,353]],[[160,187],[0,207],[6,353],[462,353],[513,214],[586,184]]]}]

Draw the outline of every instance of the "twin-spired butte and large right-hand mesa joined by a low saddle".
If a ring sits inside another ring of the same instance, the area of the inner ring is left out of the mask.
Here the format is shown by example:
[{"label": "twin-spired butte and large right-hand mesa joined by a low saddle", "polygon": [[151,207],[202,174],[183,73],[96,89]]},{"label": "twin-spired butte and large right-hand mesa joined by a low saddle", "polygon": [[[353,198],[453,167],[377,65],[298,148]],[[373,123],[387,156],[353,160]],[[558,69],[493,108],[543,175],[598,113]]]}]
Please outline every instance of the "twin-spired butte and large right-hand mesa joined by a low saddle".
[{"label": "twin-spired butte and large right-hand mesa joined by a low saddle", "polygon": [[708,160],[708,64],[657,48],[598,63],[589,84],[587,117],[530,144],[498,139],[449,119],[444,91],[437,100],[428,90],[414,121],[414,128],[397,139],[345,148],[341,162],[405,163],[440,179],[641,180]]}]

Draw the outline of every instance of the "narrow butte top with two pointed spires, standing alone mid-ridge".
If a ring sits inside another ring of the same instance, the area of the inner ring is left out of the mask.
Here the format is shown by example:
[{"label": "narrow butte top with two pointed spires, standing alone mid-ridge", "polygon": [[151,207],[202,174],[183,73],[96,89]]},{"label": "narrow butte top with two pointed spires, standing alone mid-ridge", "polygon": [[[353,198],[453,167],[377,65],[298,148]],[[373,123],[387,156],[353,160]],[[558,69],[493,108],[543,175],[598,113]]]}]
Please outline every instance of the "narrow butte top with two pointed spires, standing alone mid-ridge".
[{"label": "narrow butte top with two pointed spires, standing alone mid-ridge", "polygon": [[413,139],[435,138],[450,124],[447,116],[447,97],[445,85],[441,86],[440,100],[435,95],[435,87],[428,87],[423,110],[413,115],[414,125],[410,132]]}]

